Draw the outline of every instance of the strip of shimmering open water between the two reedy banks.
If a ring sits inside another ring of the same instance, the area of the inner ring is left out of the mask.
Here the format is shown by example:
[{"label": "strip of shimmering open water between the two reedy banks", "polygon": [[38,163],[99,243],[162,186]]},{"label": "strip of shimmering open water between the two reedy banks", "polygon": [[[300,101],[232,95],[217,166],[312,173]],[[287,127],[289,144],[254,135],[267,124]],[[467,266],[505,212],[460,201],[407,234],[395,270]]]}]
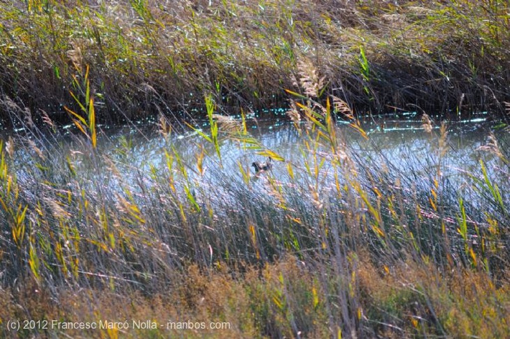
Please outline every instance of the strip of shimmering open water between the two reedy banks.
[{"label": "strip of shimmering open water between the two reedy banks", "polygon": [[[239,123],[239,121],[237,122]],[[415,178],[417,186],[420,181],[427,181],[435,173],[455,186],[461,187],[467,178],[467,173],[479,172],[480,159],[488,163],[495,162],[494,156],[480,151],[480,147],[488,143],[491,123],[484,121],[482,116],[470,121],[451,122],[447,126],[447,144],[444,154],[439,147],[440,124],[433,126],[432,131],[426,132],[421,120],[415,115],[386,116],[384,119],[367,119],[362,123],[368,139],[354,130],[347,123],[338,122],[339,149],[345,151],[347,158],[355,160],[354,167],[372,166],[374,168],[388,168],[394,173],[409,174]],[[209,127],[205,123],[198,124],[203,132],[208,134]],[[188,129],[185,132],[173,132],[165,139],[158,131],[156,124],[148,126],[123,127],[117,129],[102,128],[98,136],[98,151],[95,155],[90,152],[88,140],[79,132],[75,137],[69,135],[59,138],[46,138],[38,147],[46,154],[65,159],[69,157],[77,171],[90,182],[105,182],[104,174],[95,168],[90,171],[91,158],[99,159],[100,166],[112,167],[112,163],[121,173],[124,183],[135,184],[139,174],[142,177],[165,177],[168,175],[167,157],[165,154],[177,154],[182,167],[185,168],[190,181],[199,181],[208,187],[225,187],[225,182],[243,183],[243,171],[249,172],[252,185],[262,185],[263,176],[270,176],[283,185],[300,182],[303,186],[312,185],[317,189],[328,189],[333,183],[333,169],[328,159],[330,149],[319,147],[315,150],[313,139],[305,137],[305,125],[300,126],[301,132],[286,120],[247,121],[248,133],[260,141],[256,148],[244,145],[239,140],[220,135],[221,165],[215,148],[197,132]],[[221,130],[221,127],[220,127]],[[5,138],[4,138],[5,139]],[[35,139],[35,138],[34,138]],[[307,148],[308,143],[308,148]],[[27,143],[24,142],[26,145]],[[89,151],[86,151],[89,149]],[[261,151],[270,150],[284,161],[274,162],[269,173],[256,176],[250,167],[253,161],[266,161]],[[28,154],[27,154],[28,152]],[[197,159],[203,153],[203,172],[199,173]],[[57,154],[59,154],[57,156]],[[173,155],[176,160],[177,156]],[[104,161],[108,158],[109,161]],[[33,171],[38,156],[32,146],[19,147],[16,153],[20,164],[18,177],[23,177],[23,171]],[[290,178],[288,164],[292,165],[294,178]],[[320,178],[313,171],[314,165],[320,167]],[[308,166],[308,167],[307,167]],[[438,167],[439,166],[439,167]],[[173,165],[173,171],[179,172],[179,166]],[[438,169],[439,168],[439,169]],[[438,172],[439,171],[439,172]],[[182,170],[180,171],[182,173]],[[119,183],[118,179],[110,179],[109,186]],[[424,185],[426,187],[426,185]],[[227,189],[227,188],[225,188]]]}]

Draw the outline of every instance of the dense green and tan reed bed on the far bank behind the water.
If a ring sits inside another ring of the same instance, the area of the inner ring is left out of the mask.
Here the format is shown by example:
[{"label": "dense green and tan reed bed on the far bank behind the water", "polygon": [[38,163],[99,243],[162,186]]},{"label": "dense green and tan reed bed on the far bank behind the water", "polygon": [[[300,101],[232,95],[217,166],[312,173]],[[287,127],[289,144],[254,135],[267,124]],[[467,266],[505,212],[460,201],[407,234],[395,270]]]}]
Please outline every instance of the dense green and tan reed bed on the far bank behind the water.
[{"label": "dense green and tan reed bed on the far bank behind the water", "polygon": [[[504,112],[508,4],[412,1],[11,1],[0,8],[0,114],[67,119],[87,65],[103,122],[281,105],[314,61],[356,112]],[[78,107],[74,107],[78,108]],[[172,112],[180,112],[172,113]]]}]

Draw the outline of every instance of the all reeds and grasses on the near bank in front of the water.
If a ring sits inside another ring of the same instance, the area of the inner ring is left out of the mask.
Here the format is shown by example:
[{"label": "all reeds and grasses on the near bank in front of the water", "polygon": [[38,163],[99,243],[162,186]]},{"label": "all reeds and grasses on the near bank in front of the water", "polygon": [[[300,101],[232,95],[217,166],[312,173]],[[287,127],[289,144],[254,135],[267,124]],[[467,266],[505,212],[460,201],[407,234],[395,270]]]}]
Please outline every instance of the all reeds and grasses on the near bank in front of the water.
[{"label": "all reeds and grasses on the near bank in front of the water", "polygon": [[[21,119],[1,144],[2,335],[508,336],[507,132],[467,172],[448,165],[447,125],[423,115],[433,151],[397,165],[353,147],[336,119],[370,137],[350,106],[321,93],[312,64],[303,70],[307,95],[288,91],[293,159],[250,134],[244,114],[218,115],[213,95],[208,127],[187,127],[186,154],[162,116],[159,152],[142,165],[127,137],[101,151],[91,98],[67,108],[65,143],[49,117],[45,132]],[[89,93],[87,77],[76,83]],[[273,169],[254,175],[227,143]],[[177,322],[205,327],[167,327]]]}]

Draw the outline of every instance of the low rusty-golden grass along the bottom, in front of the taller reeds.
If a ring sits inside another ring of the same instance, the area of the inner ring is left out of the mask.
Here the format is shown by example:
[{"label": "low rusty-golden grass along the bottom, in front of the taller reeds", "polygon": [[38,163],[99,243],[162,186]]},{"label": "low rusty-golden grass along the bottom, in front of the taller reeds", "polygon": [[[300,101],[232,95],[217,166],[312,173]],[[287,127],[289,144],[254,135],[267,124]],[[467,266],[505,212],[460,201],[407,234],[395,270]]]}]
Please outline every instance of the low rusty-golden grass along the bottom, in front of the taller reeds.
[{"label": "low rusty-golden grass along the bottom, in front of the taller reeds", "polygon": [[[361,333],[364,337],[414,337],[436,333],[453,337],[506,337],[510,334],[508,279],[497,288],[482,271],[437,267],[407,261],[376,267],[363,260],[352,271],[358,281]],[[129,329],[59,330],[72,337],[295,337],[331,335],[325,307],[328,294],[320,281],[335,284],[340,277],[321,276],[294,258],[248,267],[242,271],[225,264],[200,270],[191,265],[172,272],[169,285],[156,294],[129,294],[91,288],[64,289],[57,295],[40,289],[32,279],[15,291],[0,290],[0,320],[58,319],[73,321],[125,321]],[[325,279],[325,280],[324,280]],[[330,292],[330,291],[329,291]],[[333,303],[334,304],[334,303]],[[133,327],[133,320],[155,322],[158,329]],[[224,322],[221,330],[167,329],[168,322]],[[296,328],[293,328],[293,324]],[[162,327],[159,327],[162,325]],[[23,334],[24,333],[24,334]],[[29,331],[20,331],[24,337]],[[42,334],[43,332],[39,332]],[[4,332],[4,334],[8,334]]]}]

